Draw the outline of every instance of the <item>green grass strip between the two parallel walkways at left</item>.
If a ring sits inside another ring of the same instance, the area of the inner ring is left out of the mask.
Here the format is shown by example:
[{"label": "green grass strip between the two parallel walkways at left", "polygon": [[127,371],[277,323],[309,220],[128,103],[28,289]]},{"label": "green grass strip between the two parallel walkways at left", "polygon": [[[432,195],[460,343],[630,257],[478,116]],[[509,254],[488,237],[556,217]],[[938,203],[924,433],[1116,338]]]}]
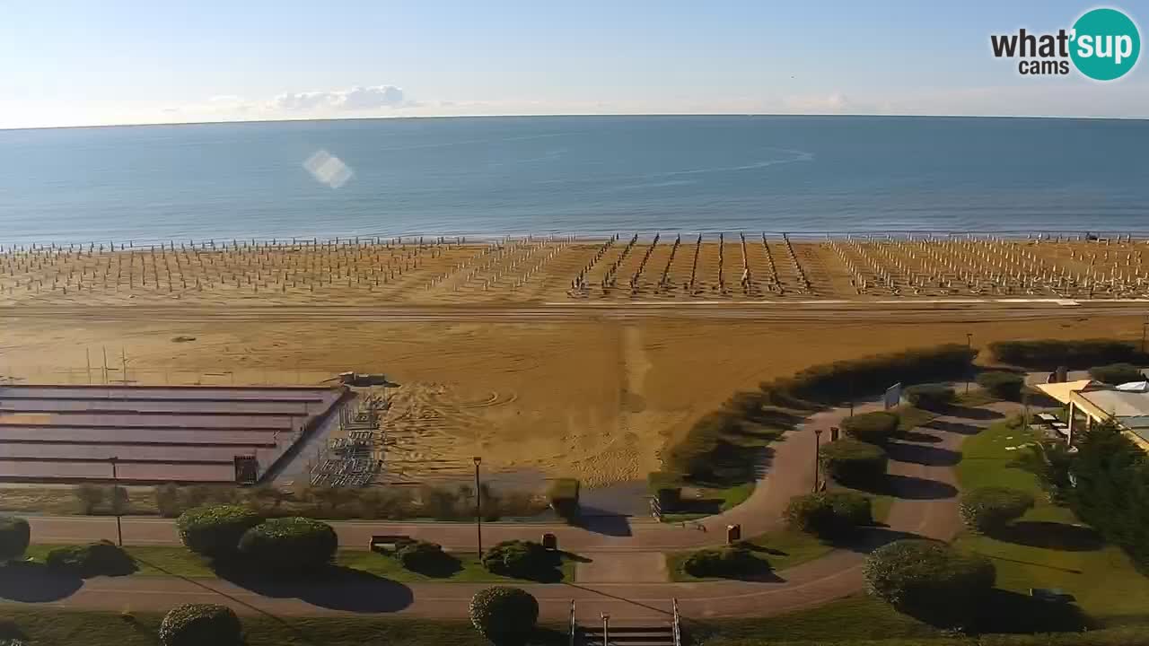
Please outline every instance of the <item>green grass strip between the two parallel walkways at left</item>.
[{"label": "green grass strip between the two parallel walkways at left", "polygon": [[[44,562],[49,551],[59,545],[32,545],[26,555],[34,561]],[[139,570],[131,576],[178,576],[186,578],[215,578],[210,561],[183,547],[168,546],[126,546],[124,547],[136,560]],[[363,570],[399,583],[439,580],[452,583],[508,583],[520,579],[491,574],[483,568],[477,554],[452,553],[460,560],[461,569],[449,576],[433,577],[404,569],[398,561],[375,552],[360,549],[340,549],[336,555],[336,564],[355,570]],[[574,559],[566,555],[562,559],[558,571],[562,580],[574,580]]]}]

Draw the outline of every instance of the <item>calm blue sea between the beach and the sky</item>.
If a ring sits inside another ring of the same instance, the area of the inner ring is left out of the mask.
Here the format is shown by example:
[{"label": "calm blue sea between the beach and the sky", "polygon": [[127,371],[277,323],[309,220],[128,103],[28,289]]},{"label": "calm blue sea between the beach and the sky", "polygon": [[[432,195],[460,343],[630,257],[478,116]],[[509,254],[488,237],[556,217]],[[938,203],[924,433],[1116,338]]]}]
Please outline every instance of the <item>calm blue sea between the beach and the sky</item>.
[{"label": "calm blue sea between the beach and the sky", "polygon": [[[340,189],[303,161],[354,169]],[[0,131],[0,244],[1149,231],[1149,122],[504,117]]]}]

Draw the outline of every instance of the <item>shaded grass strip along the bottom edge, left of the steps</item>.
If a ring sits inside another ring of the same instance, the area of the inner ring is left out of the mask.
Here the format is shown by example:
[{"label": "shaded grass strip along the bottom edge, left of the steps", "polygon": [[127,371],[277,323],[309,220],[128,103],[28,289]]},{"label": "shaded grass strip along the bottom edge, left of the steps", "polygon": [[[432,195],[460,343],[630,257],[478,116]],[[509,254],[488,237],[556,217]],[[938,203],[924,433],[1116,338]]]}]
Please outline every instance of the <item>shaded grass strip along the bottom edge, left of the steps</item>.
[{"label": "shaded grass strip along the bottom edge, left of the steps", "polygon": [[[79,613],[60,609],[9,607],[5,615],[32,644],[86,644],[90,646],[155,646],[160,614],[138,613],[128,622],[114,613]],[[395,617],[240,617],[248,646],[489,646],[466,621]],[[543,628],[535,646],[566,644],[565,632]]]}]

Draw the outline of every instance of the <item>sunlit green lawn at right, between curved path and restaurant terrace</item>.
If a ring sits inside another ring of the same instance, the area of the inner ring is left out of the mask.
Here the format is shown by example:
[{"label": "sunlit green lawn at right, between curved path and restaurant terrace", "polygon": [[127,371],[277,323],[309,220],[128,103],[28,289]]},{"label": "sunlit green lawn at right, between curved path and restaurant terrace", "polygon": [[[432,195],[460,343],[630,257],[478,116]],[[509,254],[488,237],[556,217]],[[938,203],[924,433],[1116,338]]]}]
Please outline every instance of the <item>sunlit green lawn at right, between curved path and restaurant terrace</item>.
[{"label": "sunlit green lawn at right, between curved path and restaurant terrace", "polygon": [[1017,455],[1027,449],[1008,447],[1032,440],[1027,431],[998,423],[965,441],[957,467],[962,489],[1017,487],[1032,492],[1039,502],[1008,540],[964,533],[956,545],[990,557],[1001,589],[1027,593],[1031,587],[1059,587],[1103,625],[1149,620],[1149,578],[1119,548],[1102,544],[1072,512],[1048,502],[1036,477],[1015,466]]}]

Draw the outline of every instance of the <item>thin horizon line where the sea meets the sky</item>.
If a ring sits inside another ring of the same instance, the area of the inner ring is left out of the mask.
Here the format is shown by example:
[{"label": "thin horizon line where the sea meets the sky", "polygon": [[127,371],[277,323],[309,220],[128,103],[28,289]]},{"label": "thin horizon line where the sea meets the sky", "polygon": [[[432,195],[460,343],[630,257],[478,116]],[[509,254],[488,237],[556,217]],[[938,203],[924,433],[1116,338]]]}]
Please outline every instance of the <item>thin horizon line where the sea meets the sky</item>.
[{"label": "thin horizon line where the sea meets the sky", "polygon": [[332,121],[392,121],[392,120],[447,120],[447,118],[548,118],[548,117],[872,117],[872,118],[1032,118],[1065,121],[1149,121],[1149,116],[1063,116],[1063,115],[961,115],[961,114],[872,114],[872,113],[556,113],[556,114],[503,114],[503,115],[400,115],[400,116],[348,116],[348,117],[301,117],[301,118],[253,118],[219,121],[173,121],[159,123],[102,123],[88,125],[28,125],[0,128],[0,132],[22,130],[78,130],[95,128],[153,128],[171,125],[221,125],[252,123],[299,123]]}]

